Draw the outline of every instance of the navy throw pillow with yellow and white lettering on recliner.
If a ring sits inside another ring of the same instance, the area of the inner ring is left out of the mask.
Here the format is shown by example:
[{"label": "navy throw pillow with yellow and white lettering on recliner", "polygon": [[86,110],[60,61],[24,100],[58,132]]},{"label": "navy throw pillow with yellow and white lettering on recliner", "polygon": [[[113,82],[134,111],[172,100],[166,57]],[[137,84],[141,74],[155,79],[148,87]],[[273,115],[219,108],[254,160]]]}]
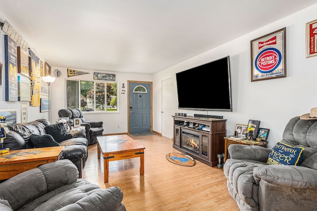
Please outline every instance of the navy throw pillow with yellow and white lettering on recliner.
[{"label": "navy throw pillow with yellow and white lettering on recliner", "polygon": [[303,160],[303,147],[293,147],[277,142],[268,155],[266,164],[299,166]]}]

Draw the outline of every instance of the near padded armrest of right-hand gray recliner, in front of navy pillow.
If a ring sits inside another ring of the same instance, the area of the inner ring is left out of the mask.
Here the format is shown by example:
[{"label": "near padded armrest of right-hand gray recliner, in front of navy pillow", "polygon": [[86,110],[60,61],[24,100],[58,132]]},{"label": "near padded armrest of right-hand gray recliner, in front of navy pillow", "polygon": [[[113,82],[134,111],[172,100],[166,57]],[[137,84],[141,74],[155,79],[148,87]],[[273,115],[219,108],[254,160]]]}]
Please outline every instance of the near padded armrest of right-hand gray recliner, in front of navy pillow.
[{"label": "near padded armrest of right-hand gray recliner, in front of navy pillow", "polygon": [[268,183],[280,186],[295,188],[317,187],[317,170],[306,167],[267,165],[254,168],[253,176],[257,184],[263,179]]}]

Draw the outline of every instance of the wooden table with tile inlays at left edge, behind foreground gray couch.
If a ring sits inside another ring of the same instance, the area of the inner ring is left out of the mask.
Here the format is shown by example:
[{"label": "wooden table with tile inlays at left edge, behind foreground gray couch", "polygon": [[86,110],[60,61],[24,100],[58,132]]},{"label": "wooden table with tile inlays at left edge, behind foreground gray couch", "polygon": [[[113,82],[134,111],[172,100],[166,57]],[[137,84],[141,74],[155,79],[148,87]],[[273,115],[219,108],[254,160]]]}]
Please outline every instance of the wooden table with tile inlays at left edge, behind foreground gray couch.
[{"label": "wooden table with tile inlays at left edge, behind foreground gray couch", "polygon": [[0,154],[0,180],[59,160],[63,146],[10,150]]}]

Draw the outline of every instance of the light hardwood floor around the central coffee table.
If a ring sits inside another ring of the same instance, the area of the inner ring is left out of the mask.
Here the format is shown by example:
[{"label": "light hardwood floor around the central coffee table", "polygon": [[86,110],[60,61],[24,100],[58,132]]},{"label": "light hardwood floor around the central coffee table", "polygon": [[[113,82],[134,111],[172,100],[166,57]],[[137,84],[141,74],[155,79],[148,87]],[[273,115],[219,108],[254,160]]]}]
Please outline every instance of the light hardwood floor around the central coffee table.
[{"label": "light hardwood floor around the central coffee table", "polygon": [[101,188],[118,186],[127,211],[239,211],[230,196],[223,169],[196,161],[194,167],[168,162],[177,152],[171,139],[159,135],[133,136],[145,146],[145,173],[140,159],[109,162],[109,182],[104,183],[104,161],[97,158],[97,144],[88,146],[89,156],[83,178]]}]

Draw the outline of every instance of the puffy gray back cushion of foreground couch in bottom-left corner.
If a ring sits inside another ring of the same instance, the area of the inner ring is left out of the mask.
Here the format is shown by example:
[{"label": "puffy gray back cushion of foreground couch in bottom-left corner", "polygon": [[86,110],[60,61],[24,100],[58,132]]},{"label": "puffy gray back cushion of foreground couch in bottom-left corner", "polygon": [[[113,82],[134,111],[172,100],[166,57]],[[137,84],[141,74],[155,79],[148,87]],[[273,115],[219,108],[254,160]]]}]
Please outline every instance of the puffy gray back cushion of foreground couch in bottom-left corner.
[{"label": "puffy gray back cushion of foreground couch in bottom-left corner", "polygon": [[47,192],[77,181],[77,178],[78,170],[71,161],[48,163],[0,183],[0,198],[17,210]]}]

